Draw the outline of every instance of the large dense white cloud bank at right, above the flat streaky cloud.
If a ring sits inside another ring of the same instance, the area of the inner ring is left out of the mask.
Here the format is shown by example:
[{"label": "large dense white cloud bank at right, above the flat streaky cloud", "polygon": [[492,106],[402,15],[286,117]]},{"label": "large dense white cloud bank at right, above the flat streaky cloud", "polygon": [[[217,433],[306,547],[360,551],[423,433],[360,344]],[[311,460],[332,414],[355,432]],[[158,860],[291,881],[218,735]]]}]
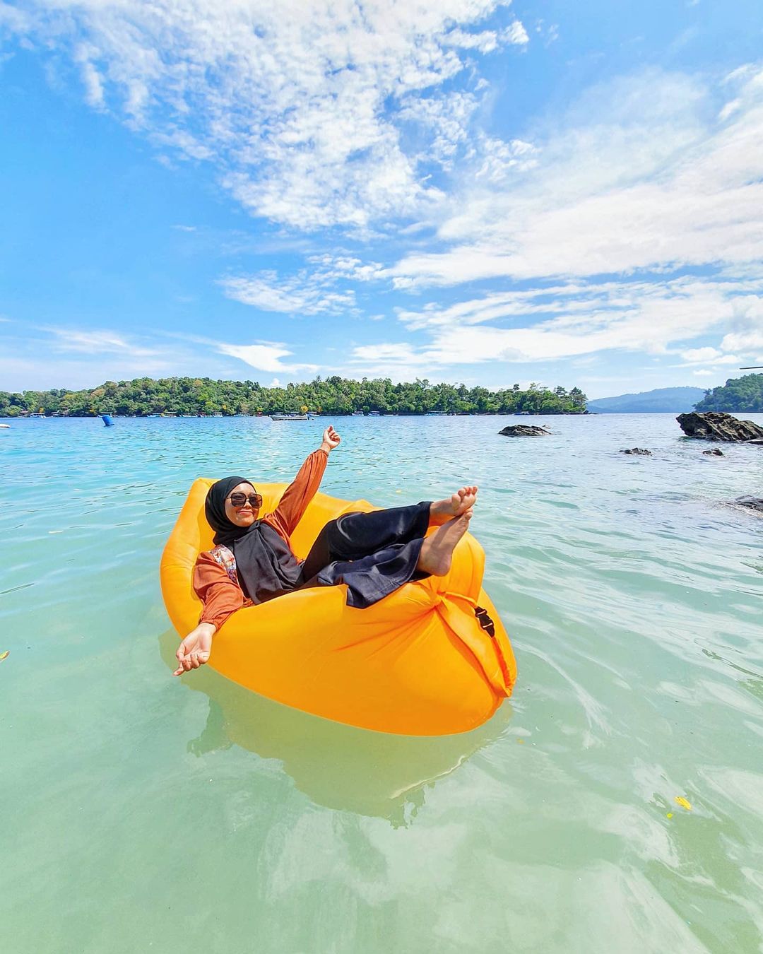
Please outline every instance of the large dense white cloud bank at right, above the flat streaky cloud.
[{"label": "large dense white cloud bank at right, above the flat streaky cloud", "polygon": [[[725,119],[711,110],[721,92],[736,102]],[[440,225],[449,247],[399,261],[399,288],[763,258],[762,72],[721,89],[664,73],[611,83],[529,145],[522,168],[485,150]]]}]

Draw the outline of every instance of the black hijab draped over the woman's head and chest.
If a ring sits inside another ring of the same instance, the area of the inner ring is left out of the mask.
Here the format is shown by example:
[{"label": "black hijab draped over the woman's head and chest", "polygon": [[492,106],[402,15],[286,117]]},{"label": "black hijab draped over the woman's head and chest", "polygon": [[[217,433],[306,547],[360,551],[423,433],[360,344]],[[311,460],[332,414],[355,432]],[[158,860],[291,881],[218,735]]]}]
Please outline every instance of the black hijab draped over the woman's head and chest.
[{"label": "black hijab draped over the woman's head and chest", "polygon": [[300,583],[301,566],[277,530],[262,520],[237,527],[225,516],[225,500],[234,487],[249,484],[247,477],[223,477],[207,491],[204,512],[215,530],[215,545],[236,556],[238,583],[254,603],[264,603]]}]

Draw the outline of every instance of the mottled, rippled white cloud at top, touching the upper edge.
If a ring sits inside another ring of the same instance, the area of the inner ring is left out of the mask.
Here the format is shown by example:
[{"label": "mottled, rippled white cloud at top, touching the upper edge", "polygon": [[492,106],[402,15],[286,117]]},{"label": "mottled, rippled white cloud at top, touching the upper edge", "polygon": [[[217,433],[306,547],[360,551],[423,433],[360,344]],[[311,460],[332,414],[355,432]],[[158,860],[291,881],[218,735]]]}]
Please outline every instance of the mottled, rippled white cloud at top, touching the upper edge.
[{"label": "mottled, rippled white cloud at top, touching the upper edge", "polygon": [[[426,146],[406,154],[401,113],[415,110],[443,155],[463,141],[468,97],[446,87],[466,65],[459,51],[472,59],[527,42],[519,21],[480,29],[499,6],[31,0],[26,18],[7,19],[45,46],[71,47],[93,105],[175,154],[213,158],[254,214],[366,230],[440,199],[417,169]],[[419,104],[433,93],[427,111]]]}]

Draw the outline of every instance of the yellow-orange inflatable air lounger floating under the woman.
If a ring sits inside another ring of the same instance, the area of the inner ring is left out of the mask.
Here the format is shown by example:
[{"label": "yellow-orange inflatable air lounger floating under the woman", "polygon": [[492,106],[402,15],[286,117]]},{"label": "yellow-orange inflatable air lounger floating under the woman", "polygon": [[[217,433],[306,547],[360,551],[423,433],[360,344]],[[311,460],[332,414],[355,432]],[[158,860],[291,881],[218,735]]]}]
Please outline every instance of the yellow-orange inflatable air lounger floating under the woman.
[{"label": "yellow-orange inflatable air lounger floating under the woman", "polygon": [[[214,482],[196,480],[161,559],[167,612],[181,636],[198,622],[192,577],[211,550],[204,499]],[[285,484],[258,484],[263,512]],[[375,509],[316,494],[292,535],[304,558],[329,520]],[[430,530],[431,532],[431,530]],[[235,612],[216,634],[209,665],[260,695],[348,725],[404,736],[445,736],[485,722],[510,695],[516,663],[505,629],[482,589],[485,551],[468,533],[450,572],[408,583],[365,610],[345,603],[346,587],[317,587]],[[483,608],[494,625],[485,627]]]}]

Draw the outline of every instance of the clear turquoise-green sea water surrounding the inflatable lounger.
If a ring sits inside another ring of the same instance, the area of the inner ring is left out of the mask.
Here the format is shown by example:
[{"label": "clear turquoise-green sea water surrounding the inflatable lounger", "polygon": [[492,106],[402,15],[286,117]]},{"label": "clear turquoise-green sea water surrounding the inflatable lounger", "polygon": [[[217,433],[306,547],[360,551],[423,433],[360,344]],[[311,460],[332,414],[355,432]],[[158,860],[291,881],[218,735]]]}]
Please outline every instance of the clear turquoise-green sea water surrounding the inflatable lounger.
[{"label": "clear turquoise-green sea water surrounding the inflatable lounger", "polygon": [[519,420],[333,422],[329,493],[481,487],[519,681],[441,739],[170,676],[191,482],[288,480],[327,422],[0,430],[4,951],[761,949],[763,520],[725,502],[763,494],[763,447],[703,456],[670,415],[497,435]]}]

